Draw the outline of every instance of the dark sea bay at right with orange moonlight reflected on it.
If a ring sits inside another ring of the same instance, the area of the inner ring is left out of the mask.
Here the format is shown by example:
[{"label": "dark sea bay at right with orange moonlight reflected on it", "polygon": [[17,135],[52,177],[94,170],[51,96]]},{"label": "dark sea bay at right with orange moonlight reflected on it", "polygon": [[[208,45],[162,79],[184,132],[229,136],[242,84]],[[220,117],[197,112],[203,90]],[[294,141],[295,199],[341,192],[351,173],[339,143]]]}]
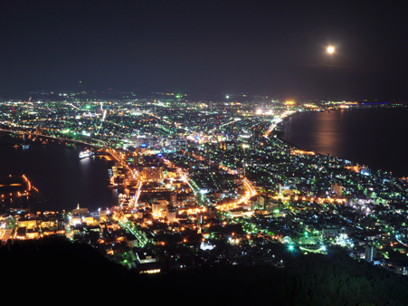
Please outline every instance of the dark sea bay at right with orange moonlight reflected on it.
[{"label": "dark sea bay at right with orange moonlight reflected on it", "polygon": [[335,110],[296,114],[281,139],[306,150],[408,176],[408,108]]}]

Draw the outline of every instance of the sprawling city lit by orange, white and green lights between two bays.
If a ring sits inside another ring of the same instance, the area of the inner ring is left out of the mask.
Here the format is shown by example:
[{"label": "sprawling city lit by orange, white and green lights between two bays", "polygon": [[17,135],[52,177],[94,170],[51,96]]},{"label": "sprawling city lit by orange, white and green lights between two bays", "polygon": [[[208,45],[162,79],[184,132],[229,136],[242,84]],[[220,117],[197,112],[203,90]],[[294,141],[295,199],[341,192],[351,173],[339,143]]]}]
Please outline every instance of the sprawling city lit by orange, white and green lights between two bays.
[{"label": "sprawling city lit by orange, white and green lights between two bays", "polygon": [[[115,164],[109,187],[118,189],[118,206],[92,216],[74,209],[63,232],[35,227],[40,221],[30,224],[25,216],[6,217],[0,220],[2,237],[13,226],[18,239],[63,233],[103,246],[107,256],[122,256],[120,263],[140,271],[145,262],[134,258],[142,249],[151,261],[157,254],[157,264],[158,258],[170,265],[182,258],[203,265],[251,258],[278,267],[282,258],[275,249],[281,244],[290,253],[327,253],[340,245],[388,268],[390,253],[408,253],[406,179],[294,148],[278,137],[280,122],[291,114],[368,106],[250,95],[60,97],[0,101],[0,129],[28,142],[86,145],[95,158],[109,158]],[[2,194],[3,201],[38,192],[26,182],[27,189]],[[45,222],[43,215],[36,218]],[[33,228],[21,234],[24,225]],[[99,234],[97,242],[90,231]],[[124,252],[125,246],[132,251]]]}]

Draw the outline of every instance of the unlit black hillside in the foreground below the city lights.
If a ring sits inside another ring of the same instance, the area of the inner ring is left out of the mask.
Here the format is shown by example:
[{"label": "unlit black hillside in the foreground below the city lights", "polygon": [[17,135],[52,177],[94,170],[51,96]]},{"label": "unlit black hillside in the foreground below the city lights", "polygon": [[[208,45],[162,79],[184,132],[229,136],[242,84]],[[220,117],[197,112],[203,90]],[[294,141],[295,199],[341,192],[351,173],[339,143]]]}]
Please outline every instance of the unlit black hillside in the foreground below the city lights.
[{"label": "unlit black hillside in the foreground below the city lights", "polygon": [[60,299],[88,297],[98,303],[147,299],[147,304],[408,304],[406,278],[357,262],[341,249],[328,255],[294,255],[280,269],[233,266],[147,276],[111,263],[88,244],[72,244],[62,237],[9,242],[0,248],[0,258],[4,292],[24,292],[19,299],[30,301],[58,293]]}]

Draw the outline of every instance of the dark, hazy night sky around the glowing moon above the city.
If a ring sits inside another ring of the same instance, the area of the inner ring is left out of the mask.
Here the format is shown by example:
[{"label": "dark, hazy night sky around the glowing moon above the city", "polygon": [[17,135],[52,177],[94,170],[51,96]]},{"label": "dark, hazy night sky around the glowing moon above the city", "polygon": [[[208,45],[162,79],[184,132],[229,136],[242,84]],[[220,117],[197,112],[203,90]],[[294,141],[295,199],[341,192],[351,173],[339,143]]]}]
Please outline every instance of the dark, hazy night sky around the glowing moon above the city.
[{"label": "dark, hazy night sky around the glowing moon above the city", "polygon": [[97,91],[406,100],[407,20],[403,2],[2,0],[0,97],[82,81]]}]

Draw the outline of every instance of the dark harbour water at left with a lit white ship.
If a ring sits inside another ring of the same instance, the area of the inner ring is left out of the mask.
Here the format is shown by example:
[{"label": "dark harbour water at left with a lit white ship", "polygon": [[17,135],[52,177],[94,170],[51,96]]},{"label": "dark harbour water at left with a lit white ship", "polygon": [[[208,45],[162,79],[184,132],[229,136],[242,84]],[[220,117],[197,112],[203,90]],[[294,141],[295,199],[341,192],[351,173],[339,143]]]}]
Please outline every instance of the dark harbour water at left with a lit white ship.
[{"label": "dark harbour water at left with a lit white ship", "polygon": [[25,175],[46,201],[31,201],[39,210],[62,211],[78,203],[89,209],[114,206],[118,193],[108,188],[108,161],[78,158],[85,148],[59,144],[30,148],[0,146],[0,177]]}]

